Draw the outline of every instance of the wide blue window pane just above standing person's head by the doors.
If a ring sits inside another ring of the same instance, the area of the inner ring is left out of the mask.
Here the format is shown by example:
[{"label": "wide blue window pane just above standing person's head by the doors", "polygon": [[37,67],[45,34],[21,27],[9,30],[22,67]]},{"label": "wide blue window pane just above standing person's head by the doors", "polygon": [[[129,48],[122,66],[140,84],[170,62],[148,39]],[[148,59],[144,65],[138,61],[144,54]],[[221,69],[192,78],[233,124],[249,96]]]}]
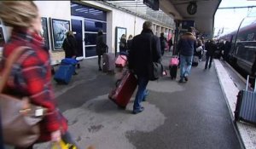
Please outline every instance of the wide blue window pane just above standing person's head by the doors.
[{"label": "wide blue window pane just above standing person's head by the doors", "polygon": [[102,30],[103,32],[107,31],[107,24],[95,20],[85,20],[84,21],[84,31],[85,32],[98,32]]}]

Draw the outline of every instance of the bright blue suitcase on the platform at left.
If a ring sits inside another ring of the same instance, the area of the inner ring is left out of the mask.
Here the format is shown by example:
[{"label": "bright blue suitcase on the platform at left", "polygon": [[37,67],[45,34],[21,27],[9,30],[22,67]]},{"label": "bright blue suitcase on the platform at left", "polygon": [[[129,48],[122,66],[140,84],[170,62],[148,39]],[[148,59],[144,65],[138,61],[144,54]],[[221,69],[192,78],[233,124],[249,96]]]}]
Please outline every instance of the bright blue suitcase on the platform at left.
[{"label": "bright blue suitcase on the platform at left", "polygon": [[71,80],[71,77],[73,76],[75,72],[75,66],[74,65],[64,65],[61,64],[58,71],[55,72],[55,81],[57,83],[69,83]]}]

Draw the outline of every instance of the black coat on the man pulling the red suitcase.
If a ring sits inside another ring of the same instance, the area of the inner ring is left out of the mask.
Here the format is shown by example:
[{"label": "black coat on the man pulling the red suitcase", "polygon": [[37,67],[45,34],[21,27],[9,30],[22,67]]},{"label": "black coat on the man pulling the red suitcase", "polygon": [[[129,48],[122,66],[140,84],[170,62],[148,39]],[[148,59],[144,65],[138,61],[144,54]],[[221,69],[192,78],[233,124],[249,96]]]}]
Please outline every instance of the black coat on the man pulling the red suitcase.
[{"label": "black coat on the man pulling the red suitcase", "polygon": [[[152,50],[152,54],[150,53]],[[151,57],[150,57],[151,56]],[[137,76],[148,77],[150,60],[160,61],[160,39],[151,30],[143,30],[140,35],[133,37],[129,54],[129,68]]]}]

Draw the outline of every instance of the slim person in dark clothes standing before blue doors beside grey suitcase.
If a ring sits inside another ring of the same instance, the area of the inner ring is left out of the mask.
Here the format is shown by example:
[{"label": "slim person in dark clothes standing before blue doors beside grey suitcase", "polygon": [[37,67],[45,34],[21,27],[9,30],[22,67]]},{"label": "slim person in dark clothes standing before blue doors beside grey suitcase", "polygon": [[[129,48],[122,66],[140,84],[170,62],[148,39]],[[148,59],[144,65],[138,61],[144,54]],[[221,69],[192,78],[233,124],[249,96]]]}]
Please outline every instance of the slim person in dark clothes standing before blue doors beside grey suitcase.
[{"label": "slim person in dark clothes standing before blue doors beside grey suitcase", "polygon": [[100,30],[96,37],[96,54],[98,55],[98,66],[99,71],[102,71],[101,60],[102,54],[106,53],[108,50],[108,45],[104,42],[103,32]]}]

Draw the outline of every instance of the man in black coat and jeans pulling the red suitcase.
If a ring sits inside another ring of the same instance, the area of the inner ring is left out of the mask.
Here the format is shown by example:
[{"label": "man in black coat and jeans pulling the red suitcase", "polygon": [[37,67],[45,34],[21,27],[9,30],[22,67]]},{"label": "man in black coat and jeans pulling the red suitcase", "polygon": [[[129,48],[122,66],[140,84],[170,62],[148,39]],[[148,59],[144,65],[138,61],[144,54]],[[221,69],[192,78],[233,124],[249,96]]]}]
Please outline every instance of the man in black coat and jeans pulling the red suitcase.
[{"label": "man in black coat and jeans pulling the red suitcase", "polygon": [[[150,52],[152,50],[152,54]],[[143,112],[141,102],[148,95],[148,65],[150,61],[159,61],[161,57],[160,39],[152,32],[152,22],[145,21],[141,34],[133,37],[129,55],[129,69],[137,75],[137,95],[134,100],[133,113]]]}]

